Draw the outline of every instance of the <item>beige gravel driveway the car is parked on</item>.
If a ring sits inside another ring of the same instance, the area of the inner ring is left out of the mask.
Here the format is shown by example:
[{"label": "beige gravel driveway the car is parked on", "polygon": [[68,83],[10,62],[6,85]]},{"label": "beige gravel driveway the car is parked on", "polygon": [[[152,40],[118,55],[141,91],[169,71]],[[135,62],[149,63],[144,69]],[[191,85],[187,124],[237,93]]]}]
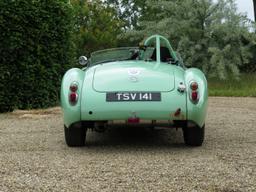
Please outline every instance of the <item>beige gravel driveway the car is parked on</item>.
[{"label": "beige gravel driveway the car is parked on", "polygon": [[0,115],[0,191],[256,191],[256,98],[210,98],[202,147],[181,130],[88,132],[68,148],[59,108]]}]

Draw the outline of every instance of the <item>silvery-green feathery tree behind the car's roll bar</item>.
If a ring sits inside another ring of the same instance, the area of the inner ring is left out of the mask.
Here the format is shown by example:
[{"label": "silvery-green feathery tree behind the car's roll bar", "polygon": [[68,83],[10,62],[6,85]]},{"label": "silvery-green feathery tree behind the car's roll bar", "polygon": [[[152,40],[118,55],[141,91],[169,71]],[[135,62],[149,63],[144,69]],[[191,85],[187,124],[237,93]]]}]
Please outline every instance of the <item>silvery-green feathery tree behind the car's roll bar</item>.
[{"label": "silvery-green feathery tree behind the car's roll bar", "polygon": [[256,35],[249,32],[252,25],[237,13],[233,0],[147,0],[145,10],[140,29],[128,31],[125,38],[136,42],[155,33],[164,35],[187,66],[210,77],[238,77],[252,58]]}]

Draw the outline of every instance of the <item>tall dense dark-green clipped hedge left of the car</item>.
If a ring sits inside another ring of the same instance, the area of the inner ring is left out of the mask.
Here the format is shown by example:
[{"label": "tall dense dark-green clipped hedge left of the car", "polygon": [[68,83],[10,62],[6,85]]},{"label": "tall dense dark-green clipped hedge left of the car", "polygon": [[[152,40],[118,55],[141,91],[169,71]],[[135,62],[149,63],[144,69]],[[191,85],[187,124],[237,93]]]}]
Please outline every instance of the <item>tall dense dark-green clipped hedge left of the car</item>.
[{"label": "tall dense dark-green clipped hedge left of the car", "polygon": [[0,7],[0,112],[56,105],[73,57],[71,6],[1,0]]}]

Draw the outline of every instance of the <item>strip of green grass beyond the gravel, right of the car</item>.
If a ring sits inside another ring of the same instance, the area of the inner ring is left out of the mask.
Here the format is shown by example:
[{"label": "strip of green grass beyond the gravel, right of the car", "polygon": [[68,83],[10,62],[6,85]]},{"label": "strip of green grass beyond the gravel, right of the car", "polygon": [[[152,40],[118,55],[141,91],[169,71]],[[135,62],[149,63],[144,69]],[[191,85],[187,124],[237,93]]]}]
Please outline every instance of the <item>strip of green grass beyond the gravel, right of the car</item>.
[{"label": "strip of green grass beyond the gravel, right of the car", "polygon": [[209,96],[256,97],[256,74],[241,74],[239,80],[208,79]]}]

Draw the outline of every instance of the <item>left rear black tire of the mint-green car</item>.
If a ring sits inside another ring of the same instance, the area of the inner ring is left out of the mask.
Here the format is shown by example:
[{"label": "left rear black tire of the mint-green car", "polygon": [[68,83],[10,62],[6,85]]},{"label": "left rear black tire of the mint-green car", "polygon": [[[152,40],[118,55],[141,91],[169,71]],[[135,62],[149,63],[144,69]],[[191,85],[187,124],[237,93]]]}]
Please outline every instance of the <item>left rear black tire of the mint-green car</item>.
[{"label": "left rear black tire of the mint-green car", "polygon": [[69,147],[81,147],[85,145],[87,129],[81,124],[71,125],[69,128],[64,126],[65,140]]}]

